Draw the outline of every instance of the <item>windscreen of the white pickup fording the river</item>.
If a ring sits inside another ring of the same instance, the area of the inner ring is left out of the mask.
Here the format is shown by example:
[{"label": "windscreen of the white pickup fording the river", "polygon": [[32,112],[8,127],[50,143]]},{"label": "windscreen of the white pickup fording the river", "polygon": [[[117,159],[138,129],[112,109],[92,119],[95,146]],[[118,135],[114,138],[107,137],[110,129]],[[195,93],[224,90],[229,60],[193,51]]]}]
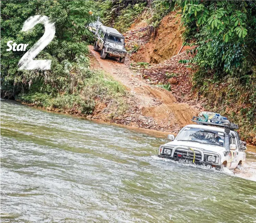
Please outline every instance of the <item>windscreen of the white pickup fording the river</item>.
[{"label": "windscreen of the white pickup fording the river", "polygon": [[214,130],[185,127],[176,137],[178,141],[193,141],[216,146],[225,145],[225,134]]}]

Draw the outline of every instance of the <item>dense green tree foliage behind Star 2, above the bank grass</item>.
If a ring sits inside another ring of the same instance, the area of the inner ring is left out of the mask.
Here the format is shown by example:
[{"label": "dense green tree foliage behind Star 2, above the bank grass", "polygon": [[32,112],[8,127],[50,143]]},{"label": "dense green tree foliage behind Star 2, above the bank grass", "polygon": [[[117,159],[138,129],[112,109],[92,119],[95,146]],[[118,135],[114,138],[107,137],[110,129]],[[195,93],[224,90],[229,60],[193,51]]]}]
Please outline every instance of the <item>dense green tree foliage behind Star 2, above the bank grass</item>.
[{"label": "dense green tree foliage behind Star 2, above the bank grass", "polygon": [[[42,88],[50,85],[56,91],[72,88],[67,86],[72,75],[64,70],[64,62],[77,60],[88,52],[87,42],[92,35],[84,27],[97,18],[96,14],[88,13],[94,6],[89,1],[1,1],[1,95],[16,95],[36,82],[43,82]],[[51,59],[51,70],[18,70],[25,52],[7,52],[7,42],[13,40],[29,44],[27,49],[32,47],[42,37],[44,26],[38,24],[31,32],[21,29],[31,15],[40,14],[48,16],[56,27],[55,37],[36,57]],[[79,75],[86,75],[86,71]]]}]

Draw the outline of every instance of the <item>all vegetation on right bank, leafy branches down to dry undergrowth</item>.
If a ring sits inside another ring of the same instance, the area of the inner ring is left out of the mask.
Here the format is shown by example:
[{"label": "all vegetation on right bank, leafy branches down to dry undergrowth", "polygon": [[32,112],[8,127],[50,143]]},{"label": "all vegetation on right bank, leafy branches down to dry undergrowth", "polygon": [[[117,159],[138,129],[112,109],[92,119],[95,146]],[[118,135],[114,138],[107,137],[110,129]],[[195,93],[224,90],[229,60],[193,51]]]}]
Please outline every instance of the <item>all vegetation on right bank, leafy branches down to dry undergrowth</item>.
[{"label": "all vegetation on right bank, leafy branches down to dry undergrowth", "polygon": [[[181,1],[187,44],[194,46],[194,89],[206,106],[256,134],[256,3]],[[196,40],[191,44],[191,40]]]}]

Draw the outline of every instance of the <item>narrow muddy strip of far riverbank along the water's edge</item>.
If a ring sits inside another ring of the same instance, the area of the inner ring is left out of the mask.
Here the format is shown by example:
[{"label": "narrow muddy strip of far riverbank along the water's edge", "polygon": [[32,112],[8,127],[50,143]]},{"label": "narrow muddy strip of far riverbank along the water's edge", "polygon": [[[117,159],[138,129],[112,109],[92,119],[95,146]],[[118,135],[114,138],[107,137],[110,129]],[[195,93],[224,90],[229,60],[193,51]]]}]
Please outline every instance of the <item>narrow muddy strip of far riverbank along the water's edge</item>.
[{"label": "narrow muddy strip of far riverbank along the water's edge", "polygon": [[[98,116],[95,116],[95,115],[85,115],[77,110],[74,110],[74,109],[70,109],[70,110],[63,110],[63,111],[60,111],[59,109],[54,109],[54,108],[44,108],[44,107],[40,107],[40,106],[36,106],[35,104],[30,104],[30,103],[26,103],[26,102],[23,102],[21,100],[15,100],[17,102],[20,102],[21,104],[24,104],[24,105],[27,105],[27,106],[30,106],[30,107],[34,107],[34,108],[38,108],[38,109],[42,109],[42,110],[46,110],[46,111],[51,111],[51,112],[58,112],[58,113],[62,113],[62,114],[69,114],[69,115],[74,115],[74,116],[78,116],[78,117],[82,117],[82,118],[86,118],[88,120],[95,120],[95,121],[101,121],[101,122],[104,122],[104,123],[111,123],[111,124],[117,124],[117,125],[120,125],[120,126],[124,126],[124,127],[131,127],[131,128],[135,128],[135,129],[141,129],[141,130],[145,130],[145,131],[156,131],[158,133],[163,133],[163,135],[168,135],[168,134],[174,134],[174,135],[177,135],[175,133],[172,133],[172,132],[166,132],[166,131],[159,131],[159,130],[156,130],[156,129],[147,129],[147,128],[143,128],[143,127],[139,127],[139,126],[135,126],[135,125],[128,125],[128,124],[120,124],[120,117],[118,120],[115,120],[115,119],[109,119],[107,117],[98,117]],[[124,119],[122,119],[121,121],[124,121]],[[254,143],[253,141],[246,141],[246,143],[248,145],[252,145],[252,146],[256,146],[256,143]]]}]

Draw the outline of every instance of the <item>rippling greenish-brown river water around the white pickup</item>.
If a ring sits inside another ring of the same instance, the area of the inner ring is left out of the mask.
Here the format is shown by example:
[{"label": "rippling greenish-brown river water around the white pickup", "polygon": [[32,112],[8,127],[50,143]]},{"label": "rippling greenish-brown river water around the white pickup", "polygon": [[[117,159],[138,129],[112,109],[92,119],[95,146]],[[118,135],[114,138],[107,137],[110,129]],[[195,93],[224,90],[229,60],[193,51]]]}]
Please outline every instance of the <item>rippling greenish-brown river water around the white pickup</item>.
[{"label": "rippling greenish-brown river water around the white pickup", "polygon": [[256,148],[235,172],[158,159],[165,136],[1,100],[1,222],[256,222]]}]

